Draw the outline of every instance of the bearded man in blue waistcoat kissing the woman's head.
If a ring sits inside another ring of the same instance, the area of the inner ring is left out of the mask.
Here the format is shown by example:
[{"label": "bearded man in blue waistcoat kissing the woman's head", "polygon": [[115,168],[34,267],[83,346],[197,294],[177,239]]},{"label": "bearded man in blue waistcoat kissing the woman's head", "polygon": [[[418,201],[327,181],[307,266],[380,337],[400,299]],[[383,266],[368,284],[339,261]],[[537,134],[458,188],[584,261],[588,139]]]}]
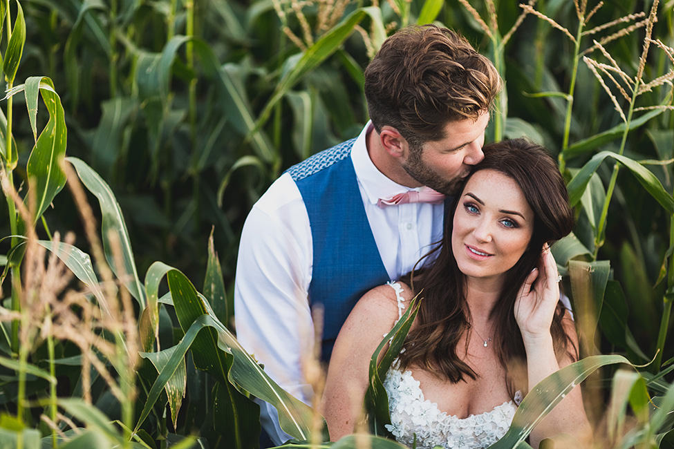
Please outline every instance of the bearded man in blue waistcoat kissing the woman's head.
[{"label": "bearded man in blue waistcoat kissing the woman's head", "polygon": [[[455,32],[400,30],[365,71],[371,122],[292,166],[254,204],[238,252],[236,333],[282,388],[310,402],[302,366],[315,325],[328,362],[360,296],[411,271],[440,240],[440,193],[483,159],[499,89],[492,63]],[[261,415],[274,443],[290,439],[274,408],[261,403]]]}]

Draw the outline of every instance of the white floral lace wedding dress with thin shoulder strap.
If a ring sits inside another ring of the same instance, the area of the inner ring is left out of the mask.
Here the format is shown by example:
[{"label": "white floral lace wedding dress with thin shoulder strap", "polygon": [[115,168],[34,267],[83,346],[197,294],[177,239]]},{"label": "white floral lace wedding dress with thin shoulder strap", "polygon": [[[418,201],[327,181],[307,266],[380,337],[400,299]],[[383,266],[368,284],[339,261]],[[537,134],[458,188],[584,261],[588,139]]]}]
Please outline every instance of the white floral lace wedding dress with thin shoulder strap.
[{"label": "white floral lace wedding dress with thin shoulder strap", "polygon": [[[399,319],[404,309],[404,299],[399,283],[389,283],[398,300]],[[438,410],[438,405],[424,398],[419,381],[411,371],[400,371],[397,359],[391,365],[384,379],[384,388],[389,395],[391,424],[386,425],[397,441],[406,446],[416,442],[419,449],[443,448],[477,449],[487,448],[503,437],[517,410],[513,401],[496,405],[489,412],[471,414],[458,418]],[[521,401],[521,393],[516,392],[515,400]]]}]

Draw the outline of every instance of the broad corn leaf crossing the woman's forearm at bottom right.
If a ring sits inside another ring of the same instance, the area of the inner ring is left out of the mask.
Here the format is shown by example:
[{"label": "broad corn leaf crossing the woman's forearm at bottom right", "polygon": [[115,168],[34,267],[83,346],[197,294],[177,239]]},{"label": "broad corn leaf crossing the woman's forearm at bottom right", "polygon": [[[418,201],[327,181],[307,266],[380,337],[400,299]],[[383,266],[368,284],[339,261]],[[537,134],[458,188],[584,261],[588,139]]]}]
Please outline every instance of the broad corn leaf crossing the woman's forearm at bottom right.
[{"label": "broad corn leaf crossing the woman's forearm at bottom right", "polygon": [[616,363],[631,365],[630,361],[619,355],[589,356],[547,376],[523,399],[508,431],[489,449],[516,447],[576,385],[599,367]]}]

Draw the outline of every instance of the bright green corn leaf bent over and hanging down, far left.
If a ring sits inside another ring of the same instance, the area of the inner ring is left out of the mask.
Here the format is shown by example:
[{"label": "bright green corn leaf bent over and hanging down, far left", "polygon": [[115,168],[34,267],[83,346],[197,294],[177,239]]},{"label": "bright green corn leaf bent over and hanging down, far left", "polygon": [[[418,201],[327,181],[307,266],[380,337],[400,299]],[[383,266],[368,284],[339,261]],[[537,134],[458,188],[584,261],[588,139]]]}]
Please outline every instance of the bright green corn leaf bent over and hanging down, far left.
[{"label": "bright green corn leaf bent over and hanging down, far left", "polygon": [[35,142],[28,157],[26,171],[31,181],[30,189],[34,190],[37,220],[49,207],[54,197],[66,184],[66,173],[61,169],[61,160],[66,155],[66,120],[59,95],[55,93],[54,84],[47,77],[30,77],[26,83],[17,86],[8,95],[24,91],[26,106],[33,135],[37,135],[35,115],[37,114],[37,93],[49,112],[49,120]]}]

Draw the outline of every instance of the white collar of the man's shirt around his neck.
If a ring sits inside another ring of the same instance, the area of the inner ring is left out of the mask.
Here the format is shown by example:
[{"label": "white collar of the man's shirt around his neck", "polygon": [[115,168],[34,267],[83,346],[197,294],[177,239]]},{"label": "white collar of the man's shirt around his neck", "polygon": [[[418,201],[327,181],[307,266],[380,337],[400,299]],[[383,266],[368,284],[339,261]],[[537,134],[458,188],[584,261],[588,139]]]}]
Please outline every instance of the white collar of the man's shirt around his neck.
[{"label": "white collar of the man's shirt around his neck", "polygon": [[418,190],[410,189],[389,179],[373,164],[368,154],[366,142],[368,135],[374,131],[374,128],[372,122],[368,122],[351,149],[351,160],[353,161],[356,178],[371,204],[377,204],[380,198],[391,198],[398,193]]}]

